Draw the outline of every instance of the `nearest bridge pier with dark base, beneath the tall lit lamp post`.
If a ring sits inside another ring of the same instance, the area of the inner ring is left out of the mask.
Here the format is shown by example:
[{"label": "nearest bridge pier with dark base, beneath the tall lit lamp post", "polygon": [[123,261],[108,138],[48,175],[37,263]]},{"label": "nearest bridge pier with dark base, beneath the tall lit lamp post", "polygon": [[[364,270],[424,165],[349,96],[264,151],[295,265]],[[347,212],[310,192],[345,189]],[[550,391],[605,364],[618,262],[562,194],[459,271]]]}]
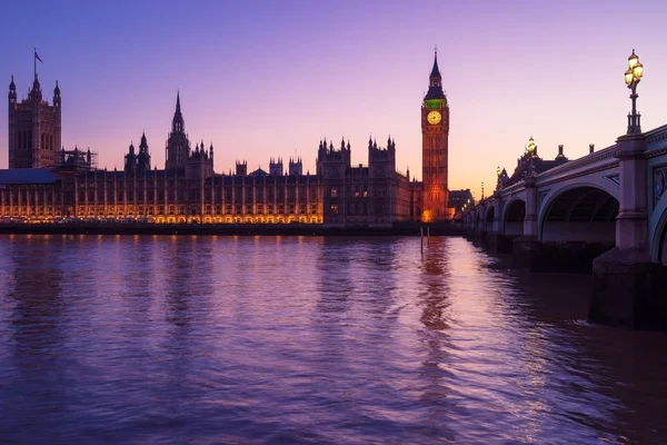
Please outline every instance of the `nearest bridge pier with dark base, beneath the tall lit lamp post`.
[{"label": "nearest bridge pier with dark base, beneath the tall lit lamp post", "polygon": [[633,329],[667,329],[667,270],[649,256],[645,151],[644,135],[617,140],[616,247],[593,261],[588,319]]}]

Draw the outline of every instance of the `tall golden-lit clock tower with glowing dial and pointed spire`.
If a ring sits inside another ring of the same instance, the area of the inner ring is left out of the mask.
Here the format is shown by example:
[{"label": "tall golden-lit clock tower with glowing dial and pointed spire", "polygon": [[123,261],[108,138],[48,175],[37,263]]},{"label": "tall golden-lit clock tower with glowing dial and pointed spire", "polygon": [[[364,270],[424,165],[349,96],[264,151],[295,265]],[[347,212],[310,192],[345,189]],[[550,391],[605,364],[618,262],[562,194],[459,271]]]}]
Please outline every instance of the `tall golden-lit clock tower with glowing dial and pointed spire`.
[{"label": "tall golden-lit clock tower with glowing dial and pointed spire", "polygon": [[451,218],[447,206],[447,156],[449,139],[449,106],[442,91],[442,77],[438,69],[438,51],[429,76],[428,92],[421,105],[421,177],[424,180],[424,222],[445,221]]}]

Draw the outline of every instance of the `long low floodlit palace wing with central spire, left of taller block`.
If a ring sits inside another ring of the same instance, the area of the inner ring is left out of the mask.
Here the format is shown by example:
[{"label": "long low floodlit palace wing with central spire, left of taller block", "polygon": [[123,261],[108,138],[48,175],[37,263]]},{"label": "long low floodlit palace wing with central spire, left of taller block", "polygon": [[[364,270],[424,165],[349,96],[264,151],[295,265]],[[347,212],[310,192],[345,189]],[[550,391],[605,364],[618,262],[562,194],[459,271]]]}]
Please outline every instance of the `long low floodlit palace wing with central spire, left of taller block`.
[{"label": "long low floodlit palace wing with central spire, left of taller block", "polygon": [[[13,81],[10,92],[13,90]],[[10,103],[12,95],[10,93]],[[56,151],[51,168],[0,171],[0,218],[16,221],[138,220],[147,222],[322,222],[321,188],[316,175],[302,175],[301,160],[282,161],[270,171],[213,172],[213,146],[195,149],[185,132],[177,97],[166,168],[151,169],[146,135],[139,151],[130,145],[122,171],[97,168],[97,154]]]}]

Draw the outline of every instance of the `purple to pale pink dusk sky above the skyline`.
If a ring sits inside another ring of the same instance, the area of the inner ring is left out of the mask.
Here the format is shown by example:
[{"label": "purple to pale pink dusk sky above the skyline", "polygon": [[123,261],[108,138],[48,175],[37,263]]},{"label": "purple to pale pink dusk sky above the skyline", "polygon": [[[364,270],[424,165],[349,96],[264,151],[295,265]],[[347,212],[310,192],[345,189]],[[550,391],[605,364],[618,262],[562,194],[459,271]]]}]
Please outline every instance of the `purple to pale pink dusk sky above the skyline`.
[{"label": "purple to pale pink dusk sky above the skyline", "polygon": [[[216,147],[268,168],[297,152],[315,171],[321,138],[349,137],[367,162],[368,137],[396,140],[398,169],[421,177],[420,103],[434,46],[451,109],[449,187],[480,195],[496,166],[514,170],[528,138],[577,158],[625,132],[623,82],[636,49],[645,130],[667,121],[667,32],[661,1],[63,1],[3,4],[0,73],[24,97],[39,79],[62,91],[62,142],[122,167],[145,130],[153,165],[180,89],[192,147]],[[0,168],[7,168],[7,108]]]}]

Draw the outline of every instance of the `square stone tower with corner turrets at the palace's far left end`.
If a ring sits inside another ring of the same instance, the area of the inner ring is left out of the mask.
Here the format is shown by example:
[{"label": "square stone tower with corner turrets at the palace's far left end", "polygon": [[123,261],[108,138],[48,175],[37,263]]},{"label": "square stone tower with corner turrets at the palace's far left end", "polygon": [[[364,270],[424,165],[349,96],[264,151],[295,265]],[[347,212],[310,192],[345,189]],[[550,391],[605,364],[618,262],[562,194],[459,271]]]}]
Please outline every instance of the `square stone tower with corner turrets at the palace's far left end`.
[{"label": "square stone tower with corner turrets at the palace's far left end", "polygon": [[61,142],[60,88],[56,82],[53,105],[42,100],[34,73],[28,99],[17,100],[13,76],[9,83],[9,168],[49,168],[56,164]]}]

